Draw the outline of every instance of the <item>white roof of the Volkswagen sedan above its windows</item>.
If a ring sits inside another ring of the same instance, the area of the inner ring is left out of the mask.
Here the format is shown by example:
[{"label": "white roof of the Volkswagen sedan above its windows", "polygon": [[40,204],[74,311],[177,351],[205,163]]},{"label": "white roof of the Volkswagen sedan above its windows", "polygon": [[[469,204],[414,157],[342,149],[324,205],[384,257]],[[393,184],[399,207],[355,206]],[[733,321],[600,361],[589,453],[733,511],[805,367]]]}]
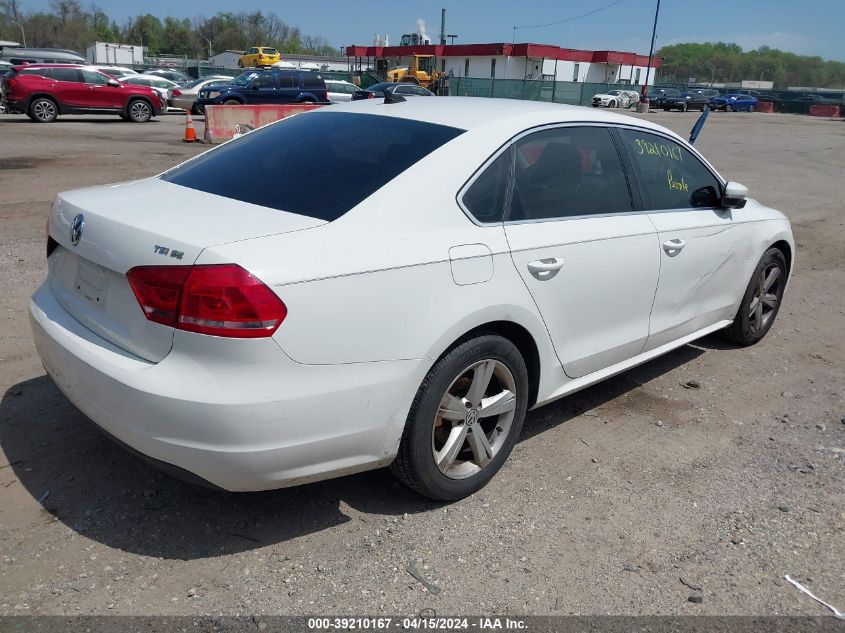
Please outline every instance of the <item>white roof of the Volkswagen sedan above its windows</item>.
[{"label": "white roof of the Volkswagen sedan above its windows", "polygon": [[[393,116],[468,131],[488,125],[500,125],[518,132],[529,127],[554,123],[615,123],[653,129],[680,138],[660,125],[610,110],[521,99],[438,97],[437,99],[408,99],[389,104],[384,103],[382,99],[361,99],[335,104],[330,110]],[[313,114],[319,113],[320,110],[313,112]]]}]

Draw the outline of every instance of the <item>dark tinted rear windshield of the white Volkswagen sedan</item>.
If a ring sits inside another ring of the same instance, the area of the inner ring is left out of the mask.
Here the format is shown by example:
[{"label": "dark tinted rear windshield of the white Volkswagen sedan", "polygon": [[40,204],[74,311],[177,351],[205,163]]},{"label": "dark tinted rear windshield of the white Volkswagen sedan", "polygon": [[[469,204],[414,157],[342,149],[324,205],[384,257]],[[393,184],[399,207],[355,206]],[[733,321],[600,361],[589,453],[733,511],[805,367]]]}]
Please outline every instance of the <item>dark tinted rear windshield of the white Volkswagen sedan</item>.
[{"label": "dark tinted rear windshield of the white Volkswagen sedan", "polygon": [[464,130],[348,112],[293,116],[161,178],[331,222]]}]

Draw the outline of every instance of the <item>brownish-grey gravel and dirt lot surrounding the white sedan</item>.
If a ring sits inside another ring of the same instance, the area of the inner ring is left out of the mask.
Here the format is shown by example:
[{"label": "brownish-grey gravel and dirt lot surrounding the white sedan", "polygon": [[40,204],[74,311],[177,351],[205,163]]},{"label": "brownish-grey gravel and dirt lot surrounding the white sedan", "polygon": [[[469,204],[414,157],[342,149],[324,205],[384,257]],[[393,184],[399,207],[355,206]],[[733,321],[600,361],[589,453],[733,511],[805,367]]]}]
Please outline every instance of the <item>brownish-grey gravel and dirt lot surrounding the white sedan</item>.
[{"label": "brownish-grey gravel and dirt lot surrounding the white sedan", "polygon": [[50,201],[202,149],[181,136],[176,116],[0,117],[0,614],[829,613],[784,574],[845,608],[845,122],[716,113],[699,140],[795,228],[762,343],[708,337],[529,414],[503,471],[447,505],[385,471],[195,488],[45,377],[26,308]]}]

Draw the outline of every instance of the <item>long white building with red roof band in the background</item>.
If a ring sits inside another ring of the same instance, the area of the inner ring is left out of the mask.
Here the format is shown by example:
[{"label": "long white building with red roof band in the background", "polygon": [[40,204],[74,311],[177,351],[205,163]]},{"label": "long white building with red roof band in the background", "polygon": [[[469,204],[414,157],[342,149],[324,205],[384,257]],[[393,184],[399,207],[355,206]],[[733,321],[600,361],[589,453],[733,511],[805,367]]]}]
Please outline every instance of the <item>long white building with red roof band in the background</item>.
[{"label": "long white building with red roof band in the background", "polygon": [[454,77],[547,79],[588,83],[651,85],[661,60],[655,57],[648,78],[648,56],[622,51],[586,51],[549,44],[420,44],[347,46],[355,70],[386,71],[407,66],[413,55],[435,55]]}]

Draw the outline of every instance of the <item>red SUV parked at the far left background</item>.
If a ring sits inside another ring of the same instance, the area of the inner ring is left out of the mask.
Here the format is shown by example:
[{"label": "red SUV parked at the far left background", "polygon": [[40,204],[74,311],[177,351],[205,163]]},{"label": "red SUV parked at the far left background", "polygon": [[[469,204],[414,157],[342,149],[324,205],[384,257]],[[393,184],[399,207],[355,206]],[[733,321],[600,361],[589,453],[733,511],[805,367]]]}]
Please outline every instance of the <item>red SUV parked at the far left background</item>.
[{"label": "red SUV parked at the far left background", "polygon": [[90,66],[15,66],[0,81],[6,111],[39,123],[52,123],[60,114],[118,114],[146,123],[167,108],[151,88],[123,84]]}]

